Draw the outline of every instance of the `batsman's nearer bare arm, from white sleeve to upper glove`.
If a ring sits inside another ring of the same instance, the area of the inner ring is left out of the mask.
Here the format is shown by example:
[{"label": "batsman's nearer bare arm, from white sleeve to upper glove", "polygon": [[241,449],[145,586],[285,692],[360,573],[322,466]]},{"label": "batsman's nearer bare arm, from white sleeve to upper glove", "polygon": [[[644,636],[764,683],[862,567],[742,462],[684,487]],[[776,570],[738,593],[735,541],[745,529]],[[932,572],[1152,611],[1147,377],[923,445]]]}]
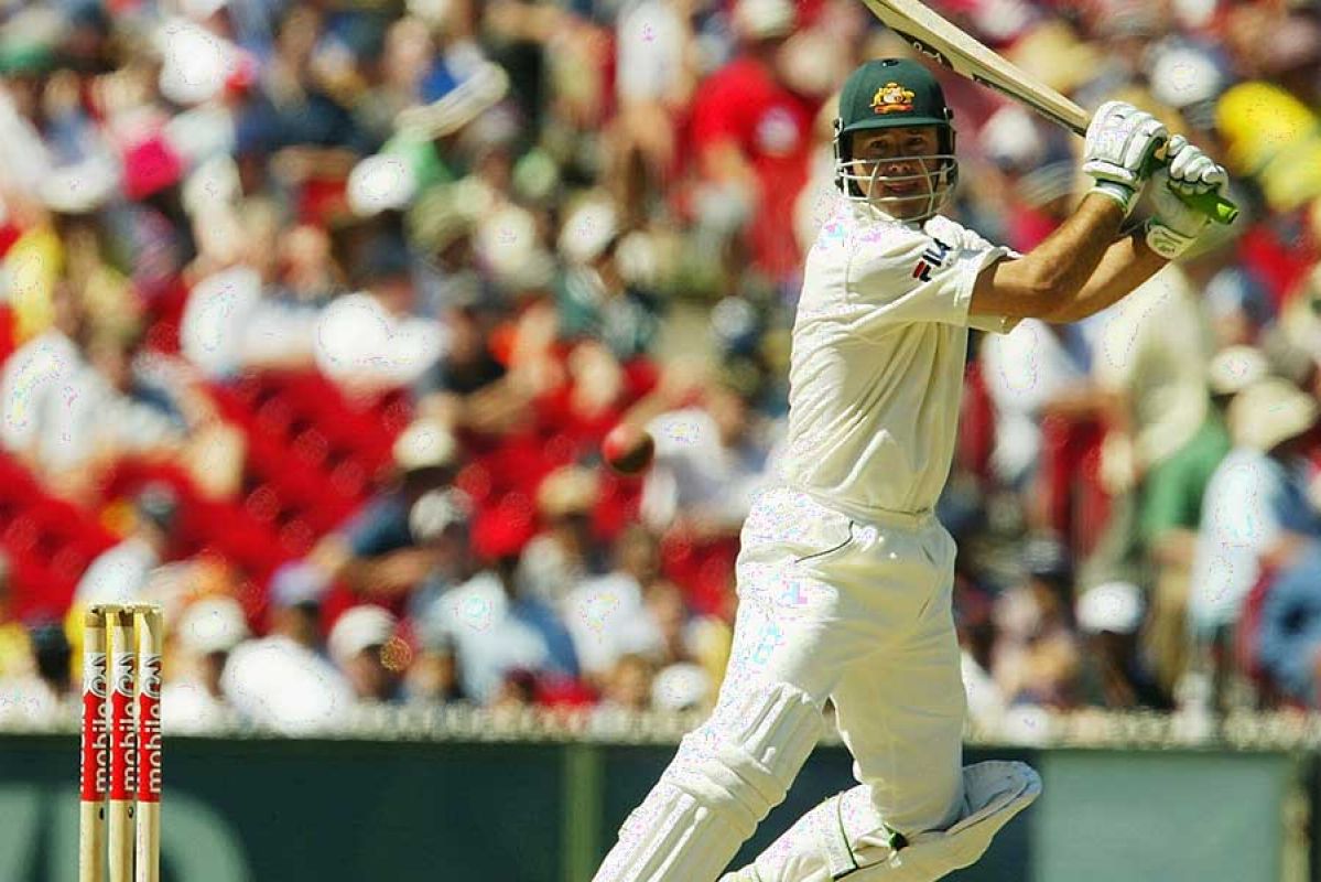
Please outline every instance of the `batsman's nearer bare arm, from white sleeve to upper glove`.
[{"label": "batsman's nearer bare arm, from white sleeve to upper glove", "polygon": [[1124,220],[1119,204],[1087,194],[1078,209],[1028,254],[982,271],[972,290],[975,315],[1048,319],[1085,290]]}]

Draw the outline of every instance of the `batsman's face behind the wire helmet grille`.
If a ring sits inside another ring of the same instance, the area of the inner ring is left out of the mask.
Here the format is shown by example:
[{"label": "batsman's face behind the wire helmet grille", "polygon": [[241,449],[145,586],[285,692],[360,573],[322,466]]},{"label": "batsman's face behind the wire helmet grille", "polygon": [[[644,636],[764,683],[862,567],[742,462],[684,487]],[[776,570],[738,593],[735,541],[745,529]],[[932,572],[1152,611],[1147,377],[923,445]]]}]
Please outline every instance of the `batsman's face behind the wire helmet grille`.
[{"label": "batsman's face behind the wire helmet grille", "polygon": [[881,128],[853,135],[855,173],[864,181],[867,198],[892,217],[917,217],[927,212],[935,186],[935,155],[941,139],[934,126]]}]

